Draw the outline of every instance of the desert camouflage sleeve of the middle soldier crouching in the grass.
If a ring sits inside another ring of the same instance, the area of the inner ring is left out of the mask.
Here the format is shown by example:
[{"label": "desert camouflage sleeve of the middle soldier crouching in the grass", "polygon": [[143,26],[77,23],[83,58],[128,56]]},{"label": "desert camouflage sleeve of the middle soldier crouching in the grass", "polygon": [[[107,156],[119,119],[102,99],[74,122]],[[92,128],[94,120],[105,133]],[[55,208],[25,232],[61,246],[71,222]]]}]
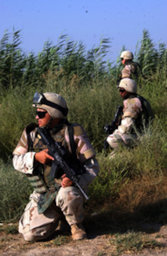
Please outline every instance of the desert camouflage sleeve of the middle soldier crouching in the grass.
[{"label": "desert camouflage sleeve of the middle soldier crouching in the grass", "polygon": [[114,133],[130,133],[138,115],[142,111],[141,101],[138,98],[124,101],[123,116],[120,126]]}]

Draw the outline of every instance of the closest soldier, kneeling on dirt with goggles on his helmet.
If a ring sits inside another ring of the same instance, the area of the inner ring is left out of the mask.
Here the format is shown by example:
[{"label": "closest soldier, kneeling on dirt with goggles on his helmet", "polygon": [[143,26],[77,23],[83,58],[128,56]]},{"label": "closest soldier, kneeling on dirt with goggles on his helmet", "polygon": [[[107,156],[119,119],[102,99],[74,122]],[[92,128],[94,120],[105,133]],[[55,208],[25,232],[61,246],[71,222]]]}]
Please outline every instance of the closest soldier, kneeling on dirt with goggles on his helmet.
[{"label": "closest soldier, kneeling on dirt with goggles on his helmet", "polygon": [[86,193],[88,185],[99,172],[95,150],[84,129],[67,121],[68,108],[63,97],[50,92],[36,93],[32,106],[36,107],[38,124],[31,123],[24,129],[13,151],[14,168],[26,174],[34,188],[19,221],[19,233],[26,241],[47,239],[54,234],[63,215],[71,227],[72,239],[85,239],[86,231],[82,225],[83,194],[66,177],[59,165],[57,165],[56,177],[50,175],[54,158],[42,142],[37,128],[47,128],[52,138],[70,153],[70,159],[74,156],[73,164],[77,167],[77,180]]}]

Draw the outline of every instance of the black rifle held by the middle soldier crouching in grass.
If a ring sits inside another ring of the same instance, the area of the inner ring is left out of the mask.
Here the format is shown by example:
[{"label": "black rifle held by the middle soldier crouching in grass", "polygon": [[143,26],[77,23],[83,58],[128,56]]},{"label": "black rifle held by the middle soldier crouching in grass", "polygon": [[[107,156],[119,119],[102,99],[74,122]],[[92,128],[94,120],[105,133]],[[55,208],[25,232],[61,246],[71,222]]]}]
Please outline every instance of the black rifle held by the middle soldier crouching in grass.
[{"label": "black rifle held by the middle soldier crouching in grass", "polygon": [[[105,133],[108,133],[108,135],[112,134],[113,131],[118,128],[118,119],[119,119],[119,116],[122,114],[122,110],[123,110],[123,107],[122,106],[118,106],[117,110],[116,110],[116,113],[115,113],[115,116],[114,116],[114,120],[112,121],[111,125],[109,124],[106,124],[104,126],[104,130],[105,130]],[[105,140],[104,142],[104,150],[106,150],[108,148],[109,144],[107,142],[107,140]]]}]

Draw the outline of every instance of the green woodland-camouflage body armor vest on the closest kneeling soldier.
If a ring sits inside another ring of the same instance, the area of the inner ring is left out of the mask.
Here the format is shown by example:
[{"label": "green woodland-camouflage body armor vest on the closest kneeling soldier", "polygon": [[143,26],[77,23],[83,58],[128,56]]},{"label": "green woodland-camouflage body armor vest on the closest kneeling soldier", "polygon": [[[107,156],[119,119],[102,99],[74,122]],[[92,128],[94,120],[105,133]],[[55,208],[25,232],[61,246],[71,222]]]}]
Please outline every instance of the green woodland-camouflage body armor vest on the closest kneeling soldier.
[{"label": "green woodland-camouflage body armor vest on the closest kneeling soldier", "polygon": [[[71,148],[71,159],[76,159],[76,143],[74,141],[74,129],[71,124],[67,122],[63,123],[63,125],[58,125],[58,127],[55,127],[51,130],[51,135],[53,139],[59,143],[61,143],[62,146],[64,146],[66,149],[69,148],[69,145],[67,145],[65,141],[65,132],[67,132],[66,129],[68,129],[69,137],[70,137],[70,148]],[[34,130],[37,127],[37,124],[32,123],[29,126],[26,127],[27,131],[27,141],[28,141],[28,151],[32,152],[39,152],[41,150],[46,149],[46,145],[43,144],[42,138],[39,134],[36,132],[36,137],[34,142],[32,142],[32,139],[30,137],[30,132]],[[77,126],[76,126],[77,127]],[[58,131],[57,131],[58,128]],[[79,128],[79,126],[78,126]],[[82,131],[80,131],[82,133]],[[76,169],[78,168],[78,162],[74,160],[72,165],[77,165]],[[27,178],[30,180],[31,185],[33,186],[33,189],[40,193],[41,196],[39,197],[39,200],[37,202],[38,205],[38,213],[43,213],[49,205],[52,203],[52,201],[55,199],[56,194],[60,188],[61,183],[61,176],[63,174],[63,171],[60,169],[60,167],[57,165],[57,173],[58,175],[56,178],[52,178],[50,175],[52,161],[49,162],[47,165],[42,165],[41,163],[37,162],[34,165],[34,171],[32,175],[27,175]],[[80,166],[81,167],[81,166]],[[83,173],[83,172],[82,172]],[[78,173],[79,174],[79,173]]]}]

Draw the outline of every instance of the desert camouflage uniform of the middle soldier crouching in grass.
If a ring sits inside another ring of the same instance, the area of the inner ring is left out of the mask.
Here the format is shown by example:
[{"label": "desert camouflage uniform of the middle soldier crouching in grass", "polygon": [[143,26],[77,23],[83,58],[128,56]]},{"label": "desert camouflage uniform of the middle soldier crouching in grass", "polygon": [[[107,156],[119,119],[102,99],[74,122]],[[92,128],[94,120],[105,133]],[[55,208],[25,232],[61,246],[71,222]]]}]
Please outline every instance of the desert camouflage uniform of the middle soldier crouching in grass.
[{"label": "desert camouflage uniform of the middle soldier crouching in grass", "polygon": [[[128,147],[136,144],[137,134],[134,127],[139,124],[139,119],[141,119],[141,114],[143,113],[142,102],[137,96],[130,96],[128,99],[124,100],[123,105],[123,115],[120,126],[118,126],[118,129],[116,129],[113,134],[107,137],[107,142],[115,150],[119,149],[120,143]],[[136,127],[137,130],[138,128],[139,127]]]}]

